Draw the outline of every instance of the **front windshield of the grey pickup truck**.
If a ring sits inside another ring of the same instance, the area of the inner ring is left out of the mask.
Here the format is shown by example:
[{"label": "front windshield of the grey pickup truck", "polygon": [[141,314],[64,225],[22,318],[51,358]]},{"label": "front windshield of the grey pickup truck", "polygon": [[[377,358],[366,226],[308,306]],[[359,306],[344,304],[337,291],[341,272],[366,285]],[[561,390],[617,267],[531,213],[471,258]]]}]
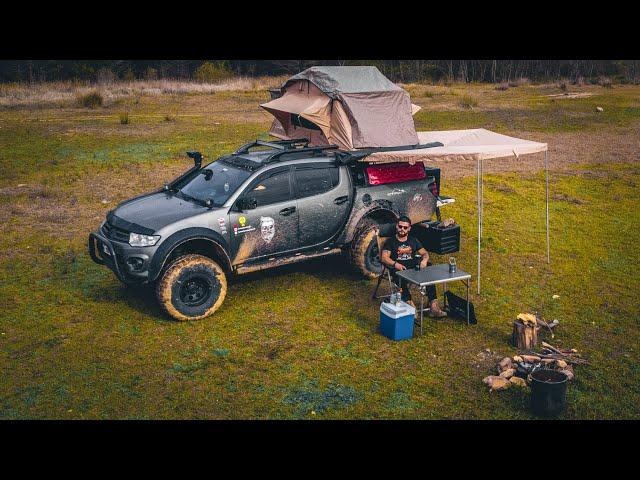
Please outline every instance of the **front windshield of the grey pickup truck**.
[{"label": "front windshield of the grey pickup truck", "polygon": [[214,206],[224,205],[251,172],[222,162],[213,162],[181,181],[176,188],[187,198],[198,202],[211,200]]}]

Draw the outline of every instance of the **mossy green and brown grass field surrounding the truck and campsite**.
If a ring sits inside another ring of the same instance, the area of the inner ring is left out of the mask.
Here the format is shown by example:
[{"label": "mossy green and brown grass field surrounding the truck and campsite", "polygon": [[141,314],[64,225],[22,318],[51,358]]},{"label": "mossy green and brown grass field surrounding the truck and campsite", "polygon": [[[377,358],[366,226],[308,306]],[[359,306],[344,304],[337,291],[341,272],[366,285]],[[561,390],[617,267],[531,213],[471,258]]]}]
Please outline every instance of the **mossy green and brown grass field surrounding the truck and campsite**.
[{"label": "mossy green and brown grass field surrounding the truck and campsite", "polygon": [[[640,87],[405,88],[418,129],[547,142],[552,170],[551,264],[542,159],[487,162],[479,323],[429,321],[407,342],[378,333],[374,282],[341,257],[233,279],[219,312],[191,323],[88,257],[106,212],[188,168],[186,150],[214,159],[266,138],[265,90],[0,102],[0,418],[528,419],[526,391],[489,393],[482,378],[515,353],[515,316],[534,311],[591,362],[564,418],[640,418]],[[441,166],[458,264],[475,272],[474,165]]]}]

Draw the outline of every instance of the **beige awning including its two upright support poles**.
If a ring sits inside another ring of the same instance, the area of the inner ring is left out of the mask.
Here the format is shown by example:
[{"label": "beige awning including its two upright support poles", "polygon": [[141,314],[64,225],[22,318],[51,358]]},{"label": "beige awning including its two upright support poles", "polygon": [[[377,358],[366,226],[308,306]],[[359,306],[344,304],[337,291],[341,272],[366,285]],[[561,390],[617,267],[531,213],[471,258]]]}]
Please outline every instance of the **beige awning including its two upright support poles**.
[{"label": "beige awning including its two upright support poles", "polygon": [[434,132],[418,132],[420,144],[441,142],[441,147],[420,150],[396,150],[374,152],[363,161],[369,163],[396,163],[442,161],[442,160],[471,160],[477,163],[477,201],[478,201],[478,293],[480,293],[480,240],[482,239],[483,217],[483,182],[484,160],[492,158],[508,158],[530,153],[544,152],[545,182],[546,182],[546,233],[547,233],[547,262],[550,258],[549,243],[549,159],[546,143],[532,142],[520,138],[509,137],[491,132],[483,128],[472,130],[444,130]]}]

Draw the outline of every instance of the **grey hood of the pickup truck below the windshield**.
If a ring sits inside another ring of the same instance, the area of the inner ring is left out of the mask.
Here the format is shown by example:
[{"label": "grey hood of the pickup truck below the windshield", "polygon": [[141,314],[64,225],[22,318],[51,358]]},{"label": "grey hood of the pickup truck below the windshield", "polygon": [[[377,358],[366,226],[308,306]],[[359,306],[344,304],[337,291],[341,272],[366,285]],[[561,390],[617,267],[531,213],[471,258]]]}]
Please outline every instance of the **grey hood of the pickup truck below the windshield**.
[{"label": "grey hood of the pickup truck below the windshield", "polygon": [[156,232],[162,227],[206,211],[206,207],[161,192],[122,203],[112,212],[112,215],[118,220],[129,223],[127,229],[129,231],[135,231],[136,227],[143,227],[145,230]]}]

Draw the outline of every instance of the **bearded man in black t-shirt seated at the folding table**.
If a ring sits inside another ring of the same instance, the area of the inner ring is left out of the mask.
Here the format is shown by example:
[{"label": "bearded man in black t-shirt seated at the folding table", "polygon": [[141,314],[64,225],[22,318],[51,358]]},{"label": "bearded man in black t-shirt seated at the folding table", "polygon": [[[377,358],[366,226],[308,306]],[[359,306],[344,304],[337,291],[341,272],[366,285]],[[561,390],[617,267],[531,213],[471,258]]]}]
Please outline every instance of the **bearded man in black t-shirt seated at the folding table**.
[{"label": "bearded man in black t-shirt seated at the folding table", "polygon": [[[400,270],[414,267],[416,262],[414,256],[416,253],[422,256],[420,268],[431,265],[429,252],[424,249],[418,239],[409,236],[410,230],[411,220],[405,215],[401,216],[396,224],[396,234],[389,238],[385,242],[384,247],[382,247],[380,259],[391,269],[394,275]],[[415,307],[411,301],[411,292],[409,292],[409,285],[406,280],[400,279],[400,288],[402,289],[402,300]],[[429,285],[427,287],[427,297],[429,298],[429,316],[445,317],[447,314],[440,309],[438,300],[436,299],[435,285]]]}]

